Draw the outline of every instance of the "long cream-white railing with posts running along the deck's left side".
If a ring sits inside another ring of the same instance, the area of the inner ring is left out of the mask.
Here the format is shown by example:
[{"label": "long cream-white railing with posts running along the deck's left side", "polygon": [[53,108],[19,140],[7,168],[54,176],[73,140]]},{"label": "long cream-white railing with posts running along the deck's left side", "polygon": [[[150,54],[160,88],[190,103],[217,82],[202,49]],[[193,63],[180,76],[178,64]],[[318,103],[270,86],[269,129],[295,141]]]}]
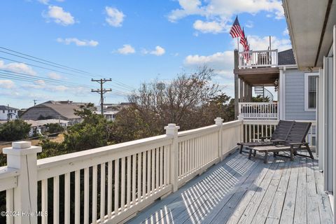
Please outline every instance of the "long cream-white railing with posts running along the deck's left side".
[{"label": "long cream-white railing with posts running along the deck's left side", "polygon": [[[42,160],[36,160],[41,147],[28,142],[4,148],[8,167],[1,167],[0,191],[6,190],[6,211],[41,208],[41,223],[123,223],[243,140],[240,120],[223,124],[216,118],[216,125],[186,132],[174,124],[165,129],[158,137]],[[7,217],[7,223],[37,220],[36,214]]]}]

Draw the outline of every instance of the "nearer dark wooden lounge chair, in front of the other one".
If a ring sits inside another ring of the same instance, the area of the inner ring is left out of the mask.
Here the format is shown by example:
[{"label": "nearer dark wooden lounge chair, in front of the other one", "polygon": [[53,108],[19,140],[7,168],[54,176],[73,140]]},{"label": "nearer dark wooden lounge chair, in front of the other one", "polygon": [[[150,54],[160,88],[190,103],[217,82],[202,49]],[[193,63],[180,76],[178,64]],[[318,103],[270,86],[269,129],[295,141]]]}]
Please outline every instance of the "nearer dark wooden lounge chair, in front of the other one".
[{"label": "nearer dark wooden lounge chair, in front of the other one", "polygon": [[[277,143],[273,146],[248,147],[249,149],[248,159],[251,159],[252,151],[254,151],[254,155],[255,155],[255,152],[258,151],[258,152],[265,153],[265,156],[264,156],[265,163],[267,163],[268,153],[271,153],[271,152],[273,153],[274,157],[278,155],[278,156],[290,158],[290,160],[292,161],[293,161],[293,155],[300,155],[300,156],[304,156],[304,157],[311,158],[312,160],[314,160],[313,153],[311,153],[309,145],[305,141],[310,127],[311,127],[311,123],[298,123],[298,122],[293,123],[293,127],[290,129],[290,132],[286,140],[277,141]],[[307,150],[309,153],[309,156],[297,153],[297,151],[301,151],[301,150]],[[279,152],[281,151],[289,151],[290,156],[279,155]]]}]

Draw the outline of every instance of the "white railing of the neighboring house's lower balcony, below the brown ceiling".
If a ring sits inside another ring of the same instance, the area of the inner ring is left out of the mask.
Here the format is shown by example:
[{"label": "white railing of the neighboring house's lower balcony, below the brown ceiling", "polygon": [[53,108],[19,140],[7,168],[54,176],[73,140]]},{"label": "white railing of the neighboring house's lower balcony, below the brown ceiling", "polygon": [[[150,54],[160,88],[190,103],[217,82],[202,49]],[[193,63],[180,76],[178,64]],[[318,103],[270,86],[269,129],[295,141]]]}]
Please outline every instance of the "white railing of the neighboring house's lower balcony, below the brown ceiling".
[{"label": "white railing of the neighboring house's lower balcony, below the brown ceiling", "polygon": [[268,103],[239,103],[239,116],[243,120],[278,120],[278,104]]}]

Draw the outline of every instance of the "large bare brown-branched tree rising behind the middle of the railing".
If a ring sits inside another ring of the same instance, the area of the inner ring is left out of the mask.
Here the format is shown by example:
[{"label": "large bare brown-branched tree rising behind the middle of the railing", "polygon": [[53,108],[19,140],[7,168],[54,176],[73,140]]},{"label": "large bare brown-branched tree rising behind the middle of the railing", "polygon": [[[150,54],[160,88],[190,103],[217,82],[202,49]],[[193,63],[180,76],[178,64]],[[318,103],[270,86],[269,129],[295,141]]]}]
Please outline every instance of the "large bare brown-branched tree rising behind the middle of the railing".
[{"label": "large bare brown-branched tree rising behind the middle of the railing", "polygon": [[[145,123],[153,130],[162,132],[167,123],[176,123],[182,130],[199,126],[204,106],[220,92],[217,84],[211,83],[214,70],[207,66],[187,75],[180,74],[169,83],[160,80],[144,83],[129,97]],[[197,118],[197,120],[193,120]]]}]

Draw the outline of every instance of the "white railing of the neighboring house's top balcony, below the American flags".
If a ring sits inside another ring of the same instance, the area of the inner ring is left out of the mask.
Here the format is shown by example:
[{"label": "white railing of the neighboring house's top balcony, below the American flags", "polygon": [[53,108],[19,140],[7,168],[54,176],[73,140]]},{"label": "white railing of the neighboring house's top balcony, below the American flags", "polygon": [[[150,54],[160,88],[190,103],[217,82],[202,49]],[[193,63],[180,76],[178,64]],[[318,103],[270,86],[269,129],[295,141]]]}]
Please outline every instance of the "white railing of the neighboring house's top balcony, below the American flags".
[{"label": "white railing of the neighboring house's top balcony, below the American flags", "polygon": [[251,50],[239,52],[238,57],[239,69],[278,66],[278,50]]}]

